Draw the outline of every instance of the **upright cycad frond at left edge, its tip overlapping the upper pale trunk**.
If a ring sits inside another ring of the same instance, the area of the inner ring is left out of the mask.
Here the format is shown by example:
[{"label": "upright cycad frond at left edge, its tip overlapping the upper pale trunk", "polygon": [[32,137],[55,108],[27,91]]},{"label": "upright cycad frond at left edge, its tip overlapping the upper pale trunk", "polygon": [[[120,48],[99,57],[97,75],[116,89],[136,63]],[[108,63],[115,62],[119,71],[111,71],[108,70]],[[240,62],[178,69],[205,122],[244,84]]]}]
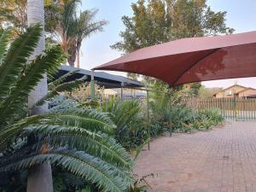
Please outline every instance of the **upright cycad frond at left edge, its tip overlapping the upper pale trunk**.
[{"label": "upright cycad frond at left edge, its tip overlapping the upper pale trunk", "polygon": [[0,98],[4,98],[20,76],[28,57],[38,44],[42,32],[39,24],[29,27],[16,38],[0,65]]}]

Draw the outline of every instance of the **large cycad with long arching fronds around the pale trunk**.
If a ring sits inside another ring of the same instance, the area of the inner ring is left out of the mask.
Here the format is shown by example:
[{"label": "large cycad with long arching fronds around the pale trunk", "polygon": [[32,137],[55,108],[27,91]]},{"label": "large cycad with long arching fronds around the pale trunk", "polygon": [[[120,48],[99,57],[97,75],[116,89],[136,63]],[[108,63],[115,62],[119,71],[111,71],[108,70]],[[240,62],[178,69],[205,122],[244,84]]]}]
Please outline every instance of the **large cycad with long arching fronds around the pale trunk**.
[{"label": "large cycad with long arching fronds around the pale trunk", "polygon": [[[0,181],[49,162],[103,191],[125,191],[133,183],[133,161],[109,136],[116,126],[108,113],[57,107],[42,115],[24,113],[33,87],[65,60],[60,46],[28,60],[41,32],[39,25],[32,26],[11,44],[9,30],[0,36]],[[50,84],[52,91],[37,105],[63,90],[60,83]]]}]

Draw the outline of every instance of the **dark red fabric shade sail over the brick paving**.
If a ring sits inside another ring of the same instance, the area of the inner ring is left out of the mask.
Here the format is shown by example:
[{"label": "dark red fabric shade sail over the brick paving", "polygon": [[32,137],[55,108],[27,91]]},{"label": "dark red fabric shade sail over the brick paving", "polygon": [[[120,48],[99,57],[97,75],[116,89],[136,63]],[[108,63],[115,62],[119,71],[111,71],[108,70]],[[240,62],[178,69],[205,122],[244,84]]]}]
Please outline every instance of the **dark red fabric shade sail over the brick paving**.
[{"label": "dark red fabric shade sail over the brick paving", "polygon": [[138,49],[95,70],[148,75],[170,85],[256,76],[256,32],[183,38]]}]

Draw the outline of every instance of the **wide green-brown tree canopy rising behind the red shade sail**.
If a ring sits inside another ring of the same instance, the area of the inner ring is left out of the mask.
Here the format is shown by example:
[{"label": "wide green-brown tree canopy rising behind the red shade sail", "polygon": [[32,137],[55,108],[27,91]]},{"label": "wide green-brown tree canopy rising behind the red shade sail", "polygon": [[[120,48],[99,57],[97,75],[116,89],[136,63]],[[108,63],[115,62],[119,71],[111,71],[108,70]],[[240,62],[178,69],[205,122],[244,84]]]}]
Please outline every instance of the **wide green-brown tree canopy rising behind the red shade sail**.
[{"label": "wide green-brown tree canopy rising behind the red shade sail", "polygon": [[111,46],[125,54],[179,38],[234,32],[225,24],[226,12],[214,12],[206,0],[138,0],[131,9],[131,17],[122,17],[122,40]]}]

